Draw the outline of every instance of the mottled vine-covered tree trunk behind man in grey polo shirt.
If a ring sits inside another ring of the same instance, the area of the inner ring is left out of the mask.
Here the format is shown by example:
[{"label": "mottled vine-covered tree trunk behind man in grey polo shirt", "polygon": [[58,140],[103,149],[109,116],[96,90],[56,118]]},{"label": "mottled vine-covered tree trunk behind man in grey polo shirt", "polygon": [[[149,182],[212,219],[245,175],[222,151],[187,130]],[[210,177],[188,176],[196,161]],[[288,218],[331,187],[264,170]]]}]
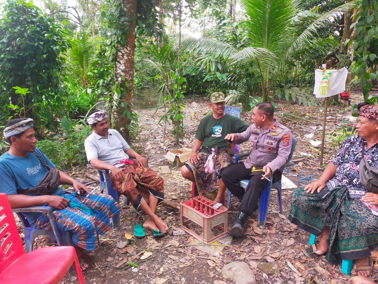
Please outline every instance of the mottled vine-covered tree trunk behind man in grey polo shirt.
[{"label": "mottled vine-covered tree trunk behind man in grey polo shirt", "polygon": [[114,92],[113,94],[112,123],[114,128],[116,128],[127,141],[129,140],[129,129],[126,125],[130,124],[131,120],[127,115],[122,116],[122,112],[125,107],[129,114],[132,112],[131,103],[133,98],[134,81],[136,4],[136,0],[123,0],[122,2],[122,9],[124,9],[126,17],[132,20],[128,23],[129,33],[127,34],[125,46],[119,44],[117,47],[115,62],[116,84],[120,84],[120,94],[119,96],[117,95],[117,92]]}]

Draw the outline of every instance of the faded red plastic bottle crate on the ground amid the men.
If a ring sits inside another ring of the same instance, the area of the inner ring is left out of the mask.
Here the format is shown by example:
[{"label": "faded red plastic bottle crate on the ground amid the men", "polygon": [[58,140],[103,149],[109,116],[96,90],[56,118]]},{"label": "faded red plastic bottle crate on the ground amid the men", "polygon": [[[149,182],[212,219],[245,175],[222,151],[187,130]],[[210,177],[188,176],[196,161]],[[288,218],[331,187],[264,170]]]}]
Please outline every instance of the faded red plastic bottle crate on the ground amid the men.
[{"label": "faded red plastic bottle crate on the ground amid the men", "polygon": [[[227,208],[214,209],[214,201],[203,196],[196,196],[180,203],[181,227],[203,243],[211,243],[227,233]],[[196,223],[202,228],[202,236],[189,229],[189,223]],[[220,233],[214,233],[216,228]]]}]

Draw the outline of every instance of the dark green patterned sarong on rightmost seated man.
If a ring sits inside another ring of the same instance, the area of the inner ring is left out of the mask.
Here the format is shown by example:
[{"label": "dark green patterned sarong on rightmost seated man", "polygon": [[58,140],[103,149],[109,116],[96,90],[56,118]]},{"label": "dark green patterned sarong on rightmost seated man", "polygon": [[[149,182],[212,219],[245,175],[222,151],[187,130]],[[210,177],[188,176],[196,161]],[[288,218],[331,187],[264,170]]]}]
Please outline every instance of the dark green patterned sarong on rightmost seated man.
[{"label": "dark green patterned sarong on rightmost seated man", "polygon": [[319,194],[306,193],[303,187],[294,191],[288,219],[316,236],[328,225],[330,262],[370,256],[378,247],[378,217],[361,200],[350,198],[347,187],[336,186],[324,195],[327,190]]}]

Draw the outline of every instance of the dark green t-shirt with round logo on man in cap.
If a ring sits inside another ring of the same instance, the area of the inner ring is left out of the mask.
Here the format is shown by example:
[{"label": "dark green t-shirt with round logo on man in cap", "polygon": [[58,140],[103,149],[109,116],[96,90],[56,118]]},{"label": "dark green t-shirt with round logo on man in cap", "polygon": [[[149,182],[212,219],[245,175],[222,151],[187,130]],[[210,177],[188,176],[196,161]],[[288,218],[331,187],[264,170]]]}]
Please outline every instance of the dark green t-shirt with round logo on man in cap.
[{"label": "dark green t-shirt with round logo on man in cap", "polygon": [[[201,120],[195,138],[202,141],[202,147],[229,148],[230,144],[225,140],[226,135],[243,132],[248,126],[249,124],[229,114],[225,114],[220,119],[215,119],[211,114]],[[201,150],[201,152],[208,151]]]}]

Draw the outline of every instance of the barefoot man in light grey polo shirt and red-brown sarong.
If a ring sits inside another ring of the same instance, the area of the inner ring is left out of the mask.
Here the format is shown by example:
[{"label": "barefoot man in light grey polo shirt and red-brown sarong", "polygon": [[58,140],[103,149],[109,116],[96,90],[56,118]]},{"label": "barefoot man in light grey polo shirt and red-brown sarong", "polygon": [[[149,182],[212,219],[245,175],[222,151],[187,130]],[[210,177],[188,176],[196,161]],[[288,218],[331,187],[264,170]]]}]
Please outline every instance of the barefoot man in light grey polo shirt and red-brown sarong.
[{"label": "barefoot man in light grey polo shirt and red-brown sarong", "polygon": [[[109,129],[105,111],[93,111],[88,116],[93,133],[85,139],[88,162],[96,169],[110,171],[115,190],[126,195],[137,211],[147,214],[143,228],[166,233],[167,224],[155,214],[156,206],[164,200],[164,181],[147,161],[136,153],[114,129]],[[129,157],[136,161],[129,161]],[[148,204],[147,204],[147,201]]]}]

